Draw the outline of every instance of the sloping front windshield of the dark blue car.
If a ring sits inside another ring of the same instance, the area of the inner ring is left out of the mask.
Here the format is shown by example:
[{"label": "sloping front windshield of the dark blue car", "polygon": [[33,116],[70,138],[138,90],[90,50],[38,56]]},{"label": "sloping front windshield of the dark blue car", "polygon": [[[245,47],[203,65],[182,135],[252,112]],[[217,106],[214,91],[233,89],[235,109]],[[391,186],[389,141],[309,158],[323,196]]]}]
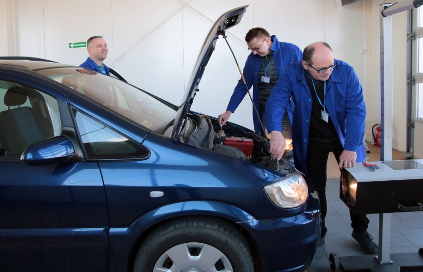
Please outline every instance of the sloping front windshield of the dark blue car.
[{"label": "sloping front windshield of the dark blue car", "polygon": [[61,67],[40,69],[37,72],[158,134],[163,134],[176,116],[175,109],[150,94],[96,71]]}]

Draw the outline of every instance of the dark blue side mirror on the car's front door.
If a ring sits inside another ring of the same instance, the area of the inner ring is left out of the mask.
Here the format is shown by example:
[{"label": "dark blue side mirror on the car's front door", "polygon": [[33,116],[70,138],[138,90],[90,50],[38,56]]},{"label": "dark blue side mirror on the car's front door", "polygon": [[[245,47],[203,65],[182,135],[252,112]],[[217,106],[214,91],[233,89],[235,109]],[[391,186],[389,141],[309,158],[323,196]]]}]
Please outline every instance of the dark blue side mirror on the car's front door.
[{"label": "dark blue side mirror on the car's front door", "polygon": [[74,155],[75,148],[70,138],[60,135],[30,144],[20,159],[27,165],[48,165],[69,161]]}]

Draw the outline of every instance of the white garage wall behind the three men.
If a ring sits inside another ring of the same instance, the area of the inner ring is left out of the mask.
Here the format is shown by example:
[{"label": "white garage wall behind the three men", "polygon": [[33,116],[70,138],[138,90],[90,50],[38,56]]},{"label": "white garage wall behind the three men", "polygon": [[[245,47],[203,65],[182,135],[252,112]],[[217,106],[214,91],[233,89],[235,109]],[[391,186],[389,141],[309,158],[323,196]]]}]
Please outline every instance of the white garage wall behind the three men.
[{"label": "white garage wall behind the three men", "polygon": [[[105,64],[132,84],[179,105],[213,22],[248,4],[241,23],[226,32],[241,69],[248,54],[245,34],[264,27],[280,41],[303,49],[328,42],[336,59],[355,69],[367,105],[365,139],[380,124],[379,5],[383,0],[0,0],[0,55],[31,56],[78,66],[86,48],[70,48],[101,35],[109,47]],[[406,151],[406,12],[393,15],[393,147]],[[240,75],[219,39],[192,110],[224,112]],[[248,96],[230,121],[253,128]]]}]

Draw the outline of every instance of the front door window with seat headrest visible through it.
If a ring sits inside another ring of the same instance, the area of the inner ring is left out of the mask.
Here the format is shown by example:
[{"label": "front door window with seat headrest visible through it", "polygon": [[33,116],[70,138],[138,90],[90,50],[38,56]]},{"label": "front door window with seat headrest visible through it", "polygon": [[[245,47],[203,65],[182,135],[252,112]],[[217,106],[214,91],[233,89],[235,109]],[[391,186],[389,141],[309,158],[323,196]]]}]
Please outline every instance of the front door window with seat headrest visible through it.
[{"label": "front door window with seat headrest visible through it", "polygon": [[62,133],[57,100],[0,80],[0,158],[20,157],[31,143]]}]

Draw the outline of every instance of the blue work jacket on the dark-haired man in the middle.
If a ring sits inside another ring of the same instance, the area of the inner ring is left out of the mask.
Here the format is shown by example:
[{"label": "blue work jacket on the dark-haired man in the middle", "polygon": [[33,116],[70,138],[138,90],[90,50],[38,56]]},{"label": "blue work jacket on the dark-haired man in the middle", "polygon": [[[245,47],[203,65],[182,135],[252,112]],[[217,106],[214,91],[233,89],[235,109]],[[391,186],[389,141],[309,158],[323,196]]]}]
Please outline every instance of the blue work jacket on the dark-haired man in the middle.
[{"label": "blue work jacket on the dark-haired man in the middle", "polygon": [[[275,62],[275,67],[278,72],[278,77],[281,76],[283,70],[288,65],[299,62],[302,60],[302,51],[299,49],[298,46],[291,44],[291,43],[284,43],[279,42],[278,38],[273,35],[273,45],[271,50],[273,53],[273,60]],[[226,108],[227,111],[231,111],[232,113],[235,112],[236,108],[241,103],[244,96],[247,94],[247,91],[253,86],[253,102],[260,114],[259,109],[259,69],[262,65],[260,57],[254,55],[253,52],[248,56],[247,61],[245,62],[245,66],[243,69],[244,79],[247,83],[247,87],[245,87],[244,81],[242,78],[238,80],[238,84],[236,84],[233,94],[229,100],[228,106]],[[289,120],[292,124],[292,112],[293,112],[293,104],[288,107],[288,115]],[[282,122],[282,118],[281,118]],[[260,134],[263,134],[261,129],[260,118],[257,116],[254,107],[253,107],[253,123],[254,123],[254,131]]]}]

